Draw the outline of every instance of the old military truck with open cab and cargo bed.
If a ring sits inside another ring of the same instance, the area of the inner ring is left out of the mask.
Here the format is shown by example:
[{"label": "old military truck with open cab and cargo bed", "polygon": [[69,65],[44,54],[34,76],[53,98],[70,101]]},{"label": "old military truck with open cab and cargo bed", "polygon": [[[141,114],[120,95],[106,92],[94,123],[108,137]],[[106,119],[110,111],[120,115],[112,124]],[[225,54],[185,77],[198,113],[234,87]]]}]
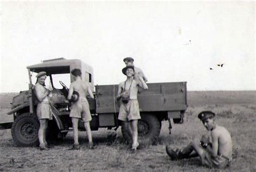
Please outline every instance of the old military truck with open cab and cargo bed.
[{"label": "old military truck with open cab and cargo bed", "polygon": [[[78,68],[82,71],[82,80],[89,82],[94,99],[88,98],[92,121],[92,131],[99,128],[117,130],[122,126],[118,120],[120,102],[115,100],[118,85],[96,85],[93,82],[93,68],[81,60],[66,60],[63,58],[45,60],[42,63],[28,66],[29,89],[21,91],[12,100],[11,110],[7,113],[13,115],[14,122],[11,126],[12,138],[16,145],[38,145],[39,121],[36,116],[37,98],[33,92],[32,79],[40,71],[46,71],[53,86],[50,104],[53,120],[49,120],[48,138],[63,138],[72,131],[72,122],[69,117],[70,104],[67,102],[69,88],[60,78],[68,77],[73,82],[71,70]],[[120,75],[122,75],[120,73]],[[61,77],[58,77],[61,76]],[[61,86],[60,86],[61,85]],[[186,82],[147,83],[149,89],[139,91],[138,101],[142,119],[138,121],[138,135],[140,142],[154,142],[157,140],[161,121],[169,120],[170,132],[171,121],[175,124],[183,123],[184,113],[187,108]],[[60,87],[60,88],[58,88]],[[79,121],[79,130],[85,130],[82,121]],[[130,140],[129,134],[122,127],[123,137]]]}]

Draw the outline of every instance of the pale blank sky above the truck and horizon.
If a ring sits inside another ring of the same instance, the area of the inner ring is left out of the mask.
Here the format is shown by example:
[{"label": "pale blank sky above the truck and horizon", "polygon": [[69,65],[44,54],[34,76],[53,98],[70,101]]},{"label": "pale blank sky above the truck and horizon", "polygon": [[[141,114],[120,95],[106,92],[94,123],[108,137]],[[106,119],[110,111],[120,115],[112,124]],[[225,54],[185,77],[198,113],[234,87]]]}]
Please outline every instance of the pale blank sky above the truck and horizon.
[{"label": "pale blank sky above the truck and horizon", "polygon": [[[118,84],[132,56],[152,82],[255,90],[254,2],[2,2],[0,92],[28,89],[26,66],[80,59]],[[217,64],[224,64],[223,67]]]}]

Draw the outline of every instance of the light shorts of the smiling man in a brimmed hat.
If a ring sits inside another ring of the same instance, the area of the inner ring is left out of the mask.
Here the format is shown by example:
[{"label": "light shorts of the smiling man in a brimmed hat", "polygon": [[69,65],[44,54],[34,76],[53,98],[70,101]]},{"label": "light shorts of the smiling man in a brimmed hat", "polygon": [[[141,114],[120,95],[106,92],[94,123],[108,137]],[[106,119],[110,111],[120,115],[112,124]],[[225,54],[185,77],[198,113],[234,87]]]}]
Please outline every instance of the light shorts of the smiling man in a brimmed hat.
[{"label": "light shorts of the smiling man in a brimmed hat", "polygon": [[122,121],[130,121],[140,119],[139,103],[137,99],[130,99],[128,103],[121,103],[118,119]]}]

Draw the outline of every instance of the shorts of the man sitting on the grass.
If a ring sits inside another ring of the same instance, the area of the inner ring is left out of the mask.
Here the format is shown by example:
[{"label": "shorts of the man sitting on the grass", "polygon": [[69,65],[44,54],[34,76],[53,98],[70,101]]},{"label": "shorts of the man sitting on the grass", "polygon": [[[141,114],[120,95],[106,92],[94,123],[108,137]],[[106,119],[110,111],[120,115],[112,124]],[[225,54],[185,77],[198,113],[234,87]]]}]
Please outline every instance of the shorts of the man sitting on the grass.
[{"label": "shorts of the man sitting on the grass", "polygon": [[228,159],[223,156],[212,157],[204,150],[202,154],[202,163],[211,168],[225,168],[228,165]]}]

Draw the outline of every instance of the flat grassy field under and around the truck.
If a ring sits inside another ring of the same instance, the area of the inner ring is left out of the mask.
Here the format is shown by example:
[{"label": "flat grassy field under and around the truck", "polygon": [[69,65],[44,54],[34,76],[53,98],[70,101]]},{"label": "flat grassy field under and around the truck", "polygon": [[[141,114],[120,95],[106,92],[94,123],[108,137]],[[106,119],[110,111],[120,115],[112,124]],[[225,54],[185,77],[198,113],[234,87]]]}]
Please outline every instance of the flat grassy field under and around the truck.
[{"label": "flat grassy field under and around the truck", "polygon": [[[1,113],[8,110],[13,94],[1,94]],[[9,101],[9,102],[8,102]],[[217,124],[230,131],[233,140],[231,167],[222,171],[256,171],[256,91],[188,92],[188,109],[184,124],[173,125],[169,135],[167,121],[162,122],[156,145],[143,145],[131,154],[124,144],[120,128],[117,132],[92,132],[97,147],[87,148],[85,132],[79,132],[80,150],[72,146],[72,132],[54,148],[40,151],[37,147],[14,147],[10,130],[0,131],[0,171],[218,171],[200,165],[200,160],[171,161],[166,145],[182,147],[200,140],[206,129],[197,119],[202,110],[217,114]],[[2,115],[2,114],[1,114]]]}]

